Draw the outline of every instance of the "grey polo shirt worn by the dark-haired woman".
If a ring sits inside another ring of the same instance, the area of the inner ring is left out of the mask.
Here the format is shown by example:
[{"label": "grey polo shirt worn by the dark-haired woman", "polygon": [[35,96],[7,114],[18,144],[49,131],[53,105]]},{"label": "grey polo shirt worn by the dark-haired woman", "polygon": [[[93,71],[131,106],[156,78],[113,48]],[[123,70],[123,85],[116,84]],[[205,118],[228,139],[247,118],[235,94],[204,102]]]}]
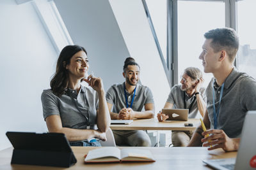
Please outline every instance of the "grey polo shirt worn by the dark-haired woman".
[{"label": "grey polo shirt worn by the dark-haired woman", "polygon": [[[51,115],[60,115],[63,127],[73,129],[94,129],[97,122],[98,95],[92,88],[81,86],[79,93],[68,90],[68,94],[55,96],[51,89],[42,92],[44,119]],[[79,111],[77,109],[79,108]]]}]

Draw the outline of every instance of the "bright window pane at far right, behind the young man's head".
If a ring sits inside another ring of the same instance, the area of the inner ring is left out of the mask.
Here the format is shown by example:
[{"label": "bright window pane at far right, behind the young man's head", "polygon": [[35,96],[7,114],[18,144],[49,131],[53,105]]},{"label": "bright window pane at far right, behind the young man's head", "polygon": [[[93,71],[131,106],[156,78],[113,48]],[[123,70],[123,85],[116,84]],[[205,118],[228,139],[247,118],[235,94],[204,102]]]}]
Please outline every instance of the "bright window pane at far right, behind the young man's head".
[{"label": "bright window pane at far right, behind the young man's head", "polygon": [[246,72],[256,78],[256,1],[244,0],[237,2],[237,33],[240,46],[237,56],[239,71]]}]

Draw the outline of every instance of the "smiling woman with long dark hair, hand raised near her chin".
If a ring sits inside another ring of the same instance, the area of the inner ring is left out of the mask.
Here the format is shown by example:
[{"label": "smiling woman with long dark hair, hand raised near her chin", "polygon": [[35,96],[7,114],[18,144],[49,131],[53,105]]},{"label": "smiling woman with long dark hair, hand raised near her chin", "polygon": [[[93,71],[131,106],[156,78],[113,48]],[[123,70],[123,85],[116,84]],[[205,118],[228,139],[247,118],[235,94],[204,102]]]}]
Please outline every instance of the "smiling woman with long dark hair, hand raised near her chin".
[{"label": "smiling woman with long dark hair, hand raised near her chin", "polygon": [[[82,46],[63,48],[57,61],[51,89],[41,96],[49,132],[61,132],[71,146],[100,146],[110,125],[103,82],[93,75],[85,78],[89,64]],[[92,88],[84,87],[86,81]],[[96,126],[97,125],[97,126]]]}]

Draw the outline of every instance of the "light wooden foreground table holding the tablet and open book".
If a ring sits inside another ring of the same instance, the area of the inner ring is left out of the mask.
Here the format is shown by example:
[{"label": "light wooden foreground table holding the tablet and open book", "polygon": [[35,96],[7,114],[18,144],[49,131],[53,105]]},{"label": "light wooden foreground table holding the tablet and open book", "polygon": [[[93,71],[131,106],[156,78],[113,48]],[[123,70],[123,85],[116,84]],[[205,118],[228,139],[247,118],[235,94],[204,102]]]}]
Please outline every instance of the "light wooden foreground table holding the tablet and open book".
[{"label": "light wooden foreground table holding the tablet and open book", "polygon": [[[96,147],[95,147],[96,148]],[[93,147],[72,147],[76,156],[77,163],[69,168],[63,167],[47,167],[47,166],[27,166],[10,164],[12,158],[13,148],[7,148],[0,151],[0,169],[1,170],[30,170],[30,169],[211,169],[202,162],[202,159],[220,159],[236,157],[237,152],[225,153],[223,150],[207,151],[203,147],[173,147],[173,148],[154,148],[154,147],[140,147],[152,152],[156,162],[133,162],[133,163],[110,163],[110,164],[84,164],[84,154],[89,150],[95,149]],[[139,148],[139,147],[137,147]]]}]

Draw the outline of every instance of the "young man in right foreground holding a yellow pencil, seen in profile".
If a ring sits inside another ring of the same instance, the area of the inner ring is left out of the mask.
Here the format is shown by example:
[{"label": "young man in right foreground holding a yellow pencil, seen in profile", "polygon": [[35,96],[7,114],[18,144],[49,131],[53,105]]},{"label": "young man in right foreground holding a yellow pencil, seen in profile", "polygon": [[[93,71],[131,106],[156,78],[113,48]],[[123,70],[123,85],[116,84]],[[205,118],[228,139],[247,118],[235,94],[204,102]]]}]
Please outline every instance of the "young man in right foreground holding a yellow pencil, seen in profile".
[{"label": "young man in right foreground holding a yellow pencil, seen in profile", "polygon": [[[212,73],[206,89],[207,110],[188,146],[211,146],[208,150],[239,148],[244,117],[248,110],[256,110],[256,81],[237,71],[234,60],[239,39],[233,29],[213,29],[204,34],[203,51],[199,56],[205,73]],[[209,137],[206,135],[209,134]]]}]

